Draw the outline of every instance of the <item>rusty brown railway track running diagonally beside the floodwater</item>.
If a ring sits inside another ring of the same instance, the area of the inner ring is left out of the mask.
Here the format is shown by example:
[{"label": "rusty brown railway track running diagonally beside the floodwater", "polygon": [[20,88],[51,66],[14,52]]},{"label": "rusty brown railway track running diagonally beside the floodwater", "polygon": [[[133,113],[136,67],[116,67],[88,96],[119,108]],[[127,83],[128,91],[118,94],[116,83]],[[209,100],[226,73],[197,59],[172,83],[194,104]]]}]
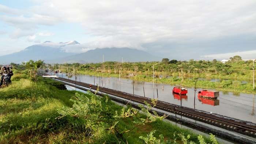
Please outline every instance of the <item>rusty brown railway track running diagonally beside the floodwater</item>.
[{"label": "rusty brown railway track running diagonally beside the floodwater", "polygon": [[[65,79],[61,77],[58,77],[56,79],[71,84],[75,84],[77,86],[97,90],[97,86],[93,84],[91,84],[90,86],[90,84],[88,83],[78,82],[75,80]],[[152,105],[150,98],[133,95],[127,92],[117,91],[105,87],[99,87],[99,91],[105,94],[110,94],[113,96],[117,96],[119,98],[127,99],[129,101],[134,101],[141,104],[144,104],[144,101],[146,101],[147,103],[150,103]],[[191,109],[189,107],[178,106],[163,101],[157,101],[157,105],[155,106],[155,108],[256,138],[256,124],[253,123],[247,123],[245,121],[226,118],[220,115],[214,115],[204,111]]]}]

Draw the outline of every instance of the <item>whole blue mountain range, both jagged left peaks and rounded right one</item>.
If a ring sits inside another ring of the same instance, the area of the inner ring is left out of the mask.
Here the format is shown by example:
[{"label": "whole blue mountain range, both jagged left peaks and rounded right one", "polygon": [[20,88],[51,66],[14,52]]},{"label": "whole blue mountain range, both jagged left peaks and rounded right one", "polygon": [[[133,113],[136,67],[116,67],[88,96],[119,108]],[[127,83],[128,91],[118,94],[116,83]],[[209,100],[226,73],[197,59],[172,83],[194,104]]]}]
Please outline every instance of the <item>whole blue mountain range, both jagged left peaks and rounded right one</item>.
[{"label": "whole blue mountain range, both jagged left peaks and rounded right one", "polygon": [[[72,49],[73,51],[68,51]],[[77,41],[54,43],[45,41],[40,44],[31,45],[12,54],[0,56],[1,64],[9,64],[10,62],[21,63],[29,60],[44,60],[47,63],[86,63],[86,62],[102,62],[104,61],[158,61],[161,58],[153,56],[143,50],[132,48],[96,48],[88,50],[84,53],[76,53],[82,51],[83,45]]]}]

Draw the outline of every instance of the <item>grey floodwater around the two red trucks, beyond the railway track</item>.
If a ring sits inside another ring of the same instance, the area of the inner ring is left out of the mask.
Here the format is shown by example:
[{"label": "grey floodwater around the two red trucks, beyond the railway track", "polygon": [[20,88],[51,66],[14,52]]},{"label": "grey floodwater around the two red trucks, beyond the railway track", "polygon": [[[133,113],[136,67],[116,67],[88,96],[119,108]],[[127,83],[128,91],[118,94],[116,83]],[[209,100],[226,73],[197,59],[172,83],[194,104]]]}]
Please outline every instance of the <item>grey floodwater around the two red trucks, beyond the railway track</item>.
[{"label": "grey floodwater around the two red trucks, beyond the railway track", "polygon": [[[143,82],[134,81],[132,79],[120,79],[116,77],[97,77],[97,76],[89,76],[89,75],[78,75],[78,76],[68,76],[66,74],[59,74],[59,77],[64,77],[67,79],[77,80],[80,82],[94,84],[100,83],[100,86],[108,87],[118,91],[128,92],[134,94],[144,96],[143,92]],[[170,86],[167,84],[156,84],[150,82],[144,82],[144,91],[145,96],[148,98],[157,98],[160,101],[165,101],[169,103],[173,103],[176,105],[182,105],[185,107],[195,108],[198,110],[204,110],[212,113],[218,113],[221,115],[226,115],[228,117],[237,118],[240,120],[250,121],[256,123],[256,97],[254,94],[245,94],[245,93],[233,93],[233,92],[219,92],[219,98],[217,100],[210,100],[204,98],[198,98],[197,92],[193,88],[188,88],[188,94],[180,95],[172,94],[172,89],[174,86]],[[195,105],[194,105],[195,98]]]}]

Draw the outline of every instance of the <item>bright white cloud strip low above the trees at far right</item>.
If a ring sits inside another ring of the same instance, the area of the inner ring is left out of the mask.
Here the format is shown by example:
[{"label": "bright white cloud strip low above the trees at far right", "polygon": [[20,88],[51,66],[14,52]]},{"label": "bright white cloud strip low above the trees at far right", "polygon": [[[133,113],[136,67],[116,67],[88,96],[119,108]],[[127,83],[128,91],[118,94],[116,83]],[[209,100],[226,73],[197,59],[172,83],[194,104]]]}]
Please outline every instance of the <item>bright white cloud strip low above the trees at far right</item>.
[{"label": "bright white cloud strip low above the trees at far right", "polygon": [[234,52],[234,53],[221,53],[221,54],[210,54],[210,55],[205,55],[201,56],[203,58],[207,59],[229,59],[230,57],[233,56],[241,56],[243,59],[255,59],[256,58],[256,50],[248,50],[248,51],[243,51],[243,52]]}]

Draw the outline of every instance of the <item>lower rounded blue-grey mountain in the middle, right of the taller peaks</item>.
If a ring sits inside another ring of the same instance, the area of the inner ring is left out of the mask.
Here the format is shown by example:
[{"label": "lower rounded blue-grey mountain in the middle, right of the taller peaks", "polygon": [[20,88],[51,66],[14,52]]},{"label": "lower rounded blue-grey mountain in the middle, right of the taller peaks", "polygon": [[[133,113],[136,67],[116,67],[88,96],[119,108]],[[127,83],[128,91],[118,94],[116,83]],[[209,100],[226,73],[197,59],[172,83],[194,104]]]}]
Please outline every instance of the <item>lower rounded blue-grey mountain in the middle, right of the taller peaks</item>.
[{"label": "lower rounded blue-grey mountain in the middle, right of the taller peaks", "polygon": [[86,63],[86,62],[102,62],[104,55],[104,61],[123,61],[136,62],[136,61],[159,61],[160,57],[153,56],[142,50],[130,49],[130,48],[103,48],[89,50],[85,53],[75,54],[64,58],[58,58],[53,60],[46,60],[49,63]]}]

